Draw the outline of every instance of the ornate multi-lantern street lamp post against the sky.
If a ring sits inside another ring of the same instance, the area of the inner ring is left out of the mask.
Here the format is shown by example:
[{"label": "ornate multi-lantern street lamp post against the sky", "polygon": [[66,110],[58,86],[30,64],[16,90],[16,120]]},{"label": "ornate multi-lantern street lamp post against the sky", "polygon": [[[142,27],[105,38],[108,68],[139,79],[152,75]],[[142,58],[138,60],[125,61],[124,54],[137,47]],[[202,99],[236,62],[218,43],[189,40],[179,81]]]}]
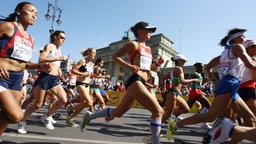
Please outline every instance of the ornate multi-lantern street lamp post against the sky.
[{"label": "ornate multi-lantern street lamp post against the sky", "polygon": [[[50,34],[52,34],[54,32],[54,29],[53,29],[53,23],[54,23],[54,20],[56,18],[56,14],[58,13],[58,19],[56,20],[56,23],[58,25],[60,25],[62,23],[62,21],[60,20],[60,17],[61,17],[61,13],[62,13],[62,10],[58,7],[58,0],[55,0],[55,4],[53,5],[52,3],[48,2],[48,9],[47,9],[47,13],[45,15],[45,18],[47,20],[49,20],[50,18],[52,18],[52,25],[51,25],[51,29],[49,30]],[[52,14],[51,13],[51,10],[52,10]]]}]

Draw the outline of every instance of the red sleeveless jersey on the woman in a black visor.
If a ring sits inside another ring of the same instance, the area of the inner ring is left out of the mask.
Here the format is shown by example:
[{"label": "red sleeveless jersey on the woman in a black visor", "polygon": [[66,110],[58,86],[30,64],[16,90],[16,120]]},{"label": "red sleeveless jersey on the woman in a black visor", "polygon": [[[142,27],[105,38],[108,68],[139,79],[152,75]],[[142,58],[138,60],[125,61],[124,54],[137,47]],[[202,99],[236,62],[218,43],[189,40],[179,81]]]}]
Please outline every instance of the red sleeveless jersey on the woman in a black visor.
[{"label": "red sleeveless jersey on the woman in a black visor", "polygon": [[[135,59],[137,55],[139,55],[139,58]],[[130,62],[131,64],[139,66],[142,70],[150,71],[150,65],[152,63],[151,49],[147,46],[139,44],[136,53],[130,57]]]}]

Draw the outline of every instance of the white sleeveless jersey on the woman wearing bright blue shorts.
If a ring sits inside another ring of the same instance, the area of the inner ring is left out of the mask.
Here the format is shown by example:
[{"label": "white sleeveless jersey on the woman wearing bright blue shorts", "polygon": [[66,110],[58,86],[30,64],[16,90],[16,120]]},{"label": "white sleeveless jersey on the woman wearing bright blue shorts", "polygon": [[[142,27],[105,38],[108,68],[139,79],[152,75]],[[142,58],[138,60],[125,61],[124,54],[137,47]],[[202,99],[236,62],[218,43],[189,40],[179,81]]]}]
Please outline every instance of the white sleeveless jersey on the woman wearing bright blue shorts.
[{"label": "white sleeveless jersey on the woman wearing bright blue shorts", "polygon": [[220,79],[226,75],[232,75],[241,80],[244,71],[244,63],[231,52],[231,46],[227,46],[220,57],[218,74]]}]

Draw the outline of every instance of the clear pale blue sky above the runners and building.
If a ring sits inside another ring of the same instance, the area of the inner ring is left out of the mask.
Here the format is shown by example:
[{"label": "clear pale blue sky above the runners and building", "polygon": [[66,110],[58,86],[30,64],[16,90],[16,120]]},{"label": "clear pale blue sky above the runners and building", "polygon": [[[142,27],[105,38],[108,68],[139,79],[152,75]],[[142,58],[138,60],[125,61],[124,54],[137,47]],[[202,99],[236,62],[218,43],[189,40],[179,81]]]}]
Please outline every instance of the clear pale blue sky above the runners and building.
[{"label": "clear pale blue sky above the runners and building", "polygon": [[[27,1],[38,9],[38,19],[28,29],[35,39],[32,61],[37,62],[39,49],[49,41],[51,20],[44,17],[48,1]],[[12,13],[19,2],[1,0],[0,15]],[[245,28],[246,38],[256,38],[255,5],[255,0],[59,0],[63,23],[54,22],[54,29],[66,32],[63,53],[79,60],[82,49],[106,47],[138,21],[146,21],[157,26],[155,34],[170,38],[173,48],[189,59],[186,65],[192,65],[219,55],[219,41],[229,29]]]}]

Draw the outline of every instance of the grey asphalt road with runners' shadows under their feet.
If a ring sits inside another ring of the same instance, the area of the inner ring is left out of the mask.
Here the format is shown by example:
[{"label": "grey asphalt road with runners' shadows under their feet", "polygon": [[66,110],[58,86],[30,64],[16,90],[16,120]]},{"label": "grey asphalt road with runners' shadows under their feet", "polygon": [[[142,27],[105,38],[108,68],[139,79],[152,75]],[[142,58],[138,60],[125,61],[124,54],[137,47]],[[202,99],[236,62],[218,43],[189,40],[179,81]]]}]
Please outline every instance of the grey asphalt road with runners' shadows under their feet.
[{"label": "grey asphalt road with runners' shadows under their feet", "polygon": [[[143,144],[143,138],[150,135],[148,131],[150,113],[145,109],[130,109],[122,118],[116,118],[106,123],[103,118],[93,120],[85,132],[79,128],[72,128],[65,124],[66,117],[62,116],[54,130],[48,130],[40,121],[40,117],[46,112],[41,108],[33,113],[27,120],[27,134],[17,134],[17,124],[11,124],[1,136],[3,144]],[[65,114],[62,108],[58,112]],[[184,114],[183,117],[191,115]],[[81,121],[81,114],[76,122]],[[162,126],[162,134],[165,134],[167,126]],[[179,129],[168,141],[165,135],[161,137],[161,143],[175,144],[200,144],[206,133],[200,125],[190,125]]]}]

